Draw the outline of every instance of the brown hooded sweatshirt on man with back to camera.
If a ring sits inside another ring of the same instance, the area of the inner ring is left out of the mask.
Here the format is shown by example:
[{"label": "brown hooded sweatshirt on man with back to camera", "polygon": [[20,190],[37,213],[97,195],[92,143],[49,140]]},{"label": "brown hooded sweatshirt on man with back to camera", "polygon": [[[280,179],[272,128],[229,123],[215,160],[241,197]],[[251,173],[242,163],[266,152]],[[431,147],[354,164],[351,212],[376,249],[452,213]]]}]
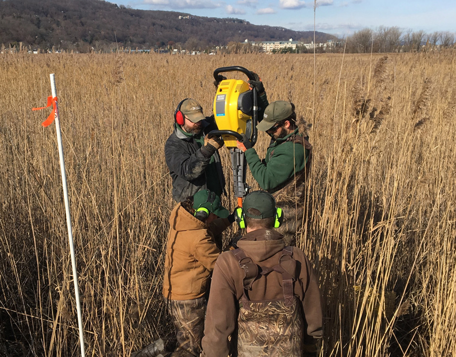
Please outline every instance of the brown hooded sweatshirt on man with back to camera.
[{"label": "brown hooded sweatshirt on man with back to camera", "polygon": [[[279,263],[285,243],[282,235],[274,230],[259,229],[247,233],[237,246],[253,262],[261,266],[273,267]],[[302,305],[303,320],[307,338],[322,336],[322,309],[318,279],[313,273],[304,252],[293,247],[296,260],[297,280],[294,294]],[[208,302],[202,357],[226,357],[229,353],[228,337],[234,332],[237,322],[237,309],[243,294],[244,271],[231,252],[224,252],[217,259],[212,277]],[[249,291],[250,301],[277,300],[283,297],[282,277],[269,274],[253,282]],[[307,343],[310,341],[307,340]]]}]

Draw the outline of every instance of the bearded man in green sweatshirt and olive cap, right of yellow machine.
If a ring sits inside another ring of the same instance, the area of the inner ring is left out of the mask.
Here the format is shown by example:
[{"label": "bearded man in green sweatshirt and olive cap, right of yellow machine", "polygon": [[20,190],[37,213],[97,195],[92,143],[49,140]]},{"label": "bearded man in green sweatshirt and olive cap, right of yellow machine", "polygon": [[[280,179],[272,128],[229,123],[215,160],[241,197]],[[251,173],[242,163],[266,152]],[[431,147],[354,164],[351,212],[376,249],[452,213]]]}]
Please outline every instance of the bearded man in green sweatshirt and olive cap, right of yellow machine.
[{"label": "bearded man in green sweatshirt and olive cap, right of yellow machine", "polygon": [[253,178],[274,196],[277,207],[283,208],[284,222],[278,231],[291,244],[302,226],[304,183],[310,170],[312,146],[299,133],[293,103],[283,100],[270,103],[257,129],[266,131],[272,138],[265,159],[258,157],[247,138],[238,141],[237,147],[245,153]]}]

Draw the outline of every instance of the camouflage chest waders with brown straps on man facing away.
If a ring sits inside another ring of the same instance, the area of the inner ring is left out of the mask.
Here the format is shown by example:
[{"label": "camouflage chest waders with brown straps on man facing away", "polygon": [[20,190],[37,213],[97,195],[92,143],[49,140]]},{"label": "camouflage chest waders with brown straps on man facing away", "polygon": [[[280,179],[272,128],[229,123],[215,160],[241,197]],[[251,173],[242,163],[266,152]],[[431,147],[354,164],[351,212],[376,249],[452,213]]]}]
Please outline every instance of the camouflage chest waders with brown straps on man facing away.
[{"label": "camouflage chest waders with brown straps on man facing away", "polygon": [[[285,247],[279,264],[258,267],[241,249],[233,251],[245,271],[244,294],[239,303],[238,357],[301,357],[303,320],[297,297],[294,296],[296,261],[292,247]],[[293,272],[290,274],[289,272]],[[248,290],[263,275],[282,275],[283,298],[275,301],[250,301]]]}]

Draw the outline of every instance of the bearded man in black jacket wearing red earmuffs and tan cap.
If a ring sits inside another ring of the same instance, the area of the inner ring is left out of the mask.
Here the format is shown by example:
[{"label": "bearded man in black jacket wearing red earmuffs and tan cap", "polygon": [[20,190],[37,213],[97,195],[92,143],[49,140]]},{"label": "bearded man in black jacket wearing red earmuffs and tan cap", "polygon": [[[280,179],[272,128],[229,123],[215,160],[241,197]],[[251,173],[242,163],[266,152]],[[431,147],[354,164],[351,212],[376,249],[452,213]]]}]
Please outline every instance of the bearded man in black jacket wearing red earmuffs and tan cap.
[{"label": "bearded man in black jacket wearing red earmuffs and tan cap", "polygon": [[[252,72],[255,80],[250,87],[258,92],[258,115],[268,105],[263,82]],[[218,75],[214,85],[226,79]],[[261,109],[262,108],[262,109]],[[214,117],[203,115],[201,105],[187,98],[179,103],[174,113],[174,131],[165,144],[165,159],[173,180],[173,199],[181,202],[196,192],[209,189],[219,197],[225,191],[225,178],[218,149],[223,146],[221,138],[208,138],[207,133],[217,129]]]}]

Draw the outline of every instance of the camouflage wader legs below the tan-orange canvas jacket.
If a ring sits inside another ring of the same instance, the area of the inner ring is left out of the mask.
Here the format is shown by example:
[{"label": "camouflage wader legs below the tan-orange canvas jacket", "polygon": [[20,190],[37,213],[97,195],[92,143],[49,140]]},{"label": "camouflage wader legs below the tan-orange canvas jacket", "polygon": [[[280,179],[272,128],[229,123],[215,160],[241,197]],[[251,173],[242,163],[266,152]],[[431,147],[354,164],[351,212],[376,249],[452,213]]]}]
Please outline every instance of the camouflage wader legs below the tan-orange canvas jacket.
[{"label": "camouflage wader legs below the tan-orange canvas jacket", "polygon": [[206,298],[169,300],[164,298],[176,329],[176,350],[172,357],[199,357],[204,335]]}]

